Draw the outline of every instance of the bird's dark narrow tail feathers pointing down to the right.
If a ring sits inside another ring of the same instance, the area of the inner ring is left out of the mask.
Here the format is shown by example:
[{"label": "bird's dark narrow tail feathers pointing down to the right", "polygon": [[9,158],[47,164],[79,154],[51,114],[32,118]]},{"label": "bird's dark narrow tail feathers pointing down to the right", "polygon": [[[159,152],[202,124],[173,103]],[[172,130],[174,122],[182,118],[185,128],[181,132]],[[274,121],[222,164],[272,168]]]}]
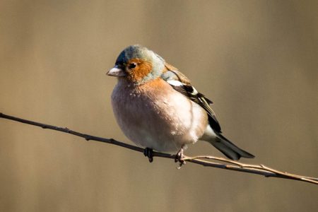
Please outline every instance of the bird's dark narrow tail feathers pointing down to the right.
[{"label": "bird's dark narrow tail feathers pointing down to the right", "polygon": [[226,139],[221,134],[217,134],[216,139],[212,141],[208,141],[215,148],[221,151],[226,157],[232,160],[239,160],[242,158],[255,158],[251,153],[247,153],[247,151],[242,150],[241,148],[235,146],[234,143]]}]

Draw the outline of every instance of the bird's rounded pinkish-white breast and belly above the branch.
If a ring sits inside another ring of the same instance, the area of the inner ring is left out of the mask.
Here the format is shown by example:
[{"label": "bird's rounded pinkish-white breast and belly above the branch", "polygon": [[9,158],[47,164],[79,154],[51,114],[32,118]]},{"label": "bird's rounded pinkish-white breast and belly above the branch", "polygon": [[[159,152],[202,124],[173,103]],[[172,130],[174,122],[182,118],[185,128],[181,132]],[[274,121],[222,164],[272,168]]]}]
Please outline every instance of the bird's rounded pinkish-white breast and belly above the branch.
[{"label": "bird's rounded pinkish-white breast and belly above the branch", "polygon": [[131,141],[160,152],[175,153],[182,145],[196,142],[207,126],[204,109],[168,84],[165,89],[133,90],[118,83],[112,107]]}]

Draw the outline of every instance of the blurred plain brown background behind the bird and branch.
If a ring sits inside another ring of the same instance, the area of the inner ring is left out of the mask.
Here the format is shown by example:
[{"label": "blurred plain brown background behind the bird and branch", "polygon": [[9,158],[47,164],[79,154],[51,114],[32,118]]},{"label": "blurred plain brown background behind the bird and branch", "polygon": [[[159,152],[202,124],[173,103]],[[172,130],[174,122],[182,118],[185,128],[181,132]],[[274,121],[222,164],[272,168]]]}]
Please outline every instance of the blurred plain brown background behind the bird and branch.
[{"label": "blurred plain brown background behind the bird and branch", "polygon": [[[318,176],[317,1],[0,1],[0,112],[131,143],[105,76],[141,44],[210,97],[225,136]],[[208,143],[188,155],[221,155]],[[0,211],[315,211],[313,184],[172,160],[0,119]]]}]

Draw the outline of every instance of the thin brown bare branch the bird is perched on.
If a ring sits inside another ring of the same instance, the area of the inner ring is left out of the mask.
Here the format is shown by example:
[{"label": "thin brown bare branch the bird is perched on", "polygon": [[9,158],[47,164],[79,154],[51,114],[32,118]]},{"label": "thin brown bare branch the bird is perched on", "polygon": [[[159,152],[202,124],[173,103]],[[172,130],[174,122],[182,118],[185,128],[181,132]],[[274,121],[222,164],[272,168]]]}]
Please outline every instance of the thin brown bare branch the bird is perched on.
[{"label": "thin brown bare branch the bird is perched on", "polygon": [[[10,119],[16,122],[22,122],[24,124],[31,124],[35,126],[40,126],[43,129],[53,129],[56,131],[62,131],[64,133],[72,134],[74,136],[79,136],[86,141],[100,141],[103,143],[110,143],[116,146],[122,146],[124,148],[129,148],[133,151],[141,152],[143,153],[143,148],[133,146],[127,143],[123,143],[120,141],[116,141],[114,139],[105,139],[101,138],[98,136],[90,136],[88,134],[82,134],[77,131],[73,131],[71,129],[68,129],[67,127],[59,127],[59,126],[53,126],[49,124],[42,124],[39,122],[33,122],[27,119],[20,119],[18,117],[12,117],[3,113],[0,113],[0,118],[3,119]],[[158,153],[158,152],[153,152],[154,157],[159,157],[159,158],[171,158],[175,159],[175,155],[170,155],[166,153]],[[263,175],[265,177],[278,177],[278,178],[284,178],[284,179],[294,179],[294,180],[299,180],[302,182],[310,182],[312,184],[318,184],[318,178],[317,177],[306,177],[306,176],[301,176],[301,175],[294,175],[290,174],[288,172],[281,172],[278,170],[274,170],[271,167],[267,167],[265,165],[251,165],[247,163],[239,163],[234,160],[229,160],[225,158],[218,158],[218,157],[213,157],[213,156],[208,156],[208,155],[203,155],[203,156],[195,156],[195,157],[189,157],[187,155],[184,155],[184,158],[182,158],[184,161],[187,161],[189,163],[196,163],[199,165],[204,165],[204,166],[209,166],[209,167],[216,167],[216,168],[221,168],[225,170],[232,170],[232,171],[237,171],[237,172],[248,172],[251,174],[255,175]],[[202,160],[206,159],[206,160]],[[223,163],[216,163],[208,160],[217,160]],[[224,164],[226,163],[226,164]]]}]

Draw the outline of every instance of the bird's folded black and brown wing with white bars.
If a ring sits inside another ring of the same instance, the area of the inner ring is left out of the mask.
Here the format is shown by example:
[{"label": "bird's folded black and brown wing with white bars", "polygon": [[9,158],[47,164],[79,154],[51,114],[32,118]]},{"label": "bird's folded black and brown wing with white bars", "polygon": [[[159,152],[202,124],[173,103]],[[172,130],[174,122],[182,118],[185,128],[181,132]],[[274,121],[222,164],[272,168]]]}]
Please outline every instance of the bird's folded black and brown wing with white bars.
[{"label": "bird's folded black and brown wing with white bars", "polygon": [[210,104],[213,102],[206,98],[202,93],[199,93],[196,88],[194,88],[187,76],[178,71],[174,66],[170,64],[165,64],[165,71],[161,75],[164,81],[170,84],[172,88],[182,93],[190,100],[196,102],[208,113],[208,122],[211,128],[216,131],[216,133],[221,133],[220,124],[216,119],[216,114],[213,112]]}]

